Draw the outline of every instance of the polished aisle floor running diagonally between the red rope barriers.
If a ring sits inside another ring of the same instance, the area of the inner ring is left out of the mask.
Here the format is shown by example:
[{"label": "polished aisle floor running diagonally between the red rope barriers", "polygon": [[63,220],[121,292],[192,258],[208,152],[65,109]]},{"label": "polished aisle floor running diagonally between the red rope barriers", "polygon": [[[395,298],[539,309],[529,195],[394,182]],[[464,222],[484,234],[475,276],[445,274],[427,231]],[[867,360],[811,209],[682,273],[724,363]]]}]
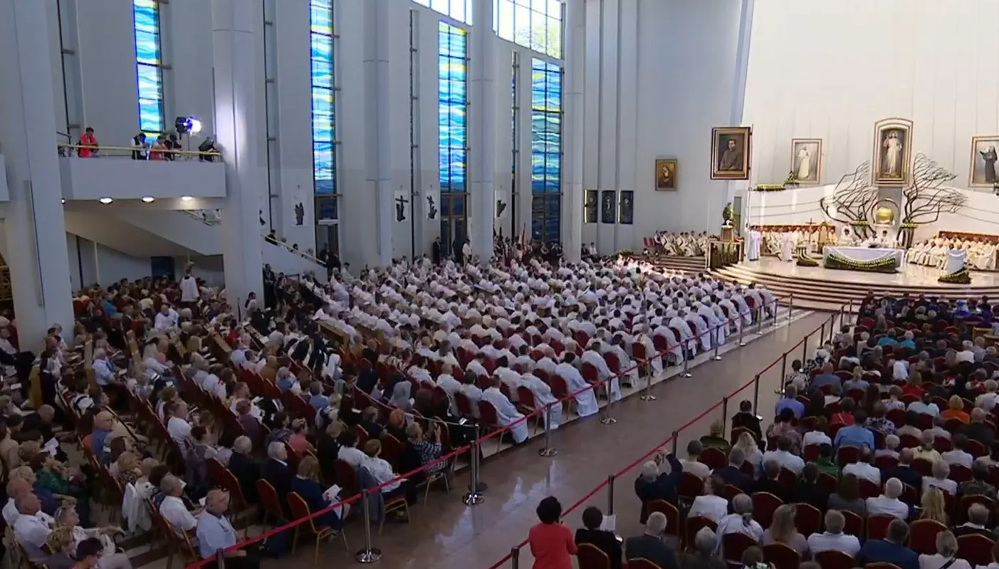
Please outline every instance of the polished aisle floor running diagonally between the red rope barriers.
[{"label": "polished aisle floor running diagonally between the red rope barriers", "polygon": [[[551,436],[557,455],[540,457],[537,451],[543,440],[487,458],[482,479],[489,484],[485,500],[477,506],[466,506],[462,495],[468,484],[468,470],[461,472],[450,495],[434,492],[427,504],[413,509],[411,524],[387,522],[385,534],[374,528],[373,545],[380,548],[380,567],[393,569],[440,568],[486,569],[494,565],[510,548],[526,537],[536,521],[534,507],[541,498],[554,495],[564,508],[583,498],[593,488],[605,483],[607,476],[639,459],[646,451],[665,441],[673,430],[693,419],[701,411],[718,403],[722,396],[750,382],[774,360],[788,351],[801,337],[817,328],[827,315],[802,315],[790,323],[782,322],[777,329],[752,341],[747,347],[722,352],[721,361],[708,361],[691,369],[692,378],[675,378],[653,386],[656,401],[641,401],[637,396],[615,403],[614,425],[603,425],[593,416],[573,422]],[[817,341],[817,339],[815,339]],[[789,359],[800,357],[800,348]],[[759,406],[770,409],[779,385],[780,364],[763,374],[759,389]],[[750,386],[733,397],[728,416],[737,402],[752,399]],[[767,413],[764,413],[767,414]],[[721,418],[721,408],[715,409],[692,424],[679,437],[679,447],[693,437],[706,432],[711,421]],[[494,446],[494,445],[491,445]],[[488,449],[487,449],[488,450]],[[490,454],[490,453],[488,453]],[[637,471],[632,469],[613,484],[613,506],[619,514],[618,532],[632,535],[639,531],[637,501],[632,484]],[[586,500],[567,518],[570,527],[579,526],[582,509],[599,506],[608,513],[608,492],[601,489]],[[321,546],[320,563],[324,566],[354,565],[357,550],[364,546],[363,526],[348,525],[349,550],[342,541]],[[251,530],[251,535],[256,532]],[[290,569],[310,563],[312,543],[303,540],[299,553],[280,560],[267,560],[265,569]],[[529,552],[519,552],[519,567],[530,567]],[[147,565],[160,569],[166,560]],[[175,561],[175,566],[179,562]],[[512,567],[509,562],[502,567]]]}]

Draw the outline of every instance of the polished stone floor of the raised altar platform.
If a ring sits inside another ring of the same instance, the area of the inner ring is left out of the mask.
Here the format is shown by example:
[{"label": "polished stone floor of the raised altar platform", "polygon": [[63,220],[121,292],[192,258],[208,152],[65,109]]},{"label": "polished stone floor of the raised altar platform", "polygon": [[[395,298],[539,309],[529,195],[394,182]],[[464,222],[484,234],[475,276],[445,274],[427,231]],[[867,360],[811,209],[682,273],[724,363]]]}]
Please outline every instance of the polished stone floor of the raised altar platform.
[{"label": "polished stone floor of the raised altar platform", "polygon": [[[945,285],[937,282],[943,271],[936,267],[924,267],[906,263],[897,273],[873,273],[862,271],[839,271],[823,267],[801,267],[793,261],[781,261],[777,257],[760,257],[758,261],[743,261],[739,266],[772,275],[822,279],[829,281],[848,280],[854,284],[870,283],[872,285],[897,286],[965,286]],[[972,271],[971,286],[999,286],[999,272]]]}]

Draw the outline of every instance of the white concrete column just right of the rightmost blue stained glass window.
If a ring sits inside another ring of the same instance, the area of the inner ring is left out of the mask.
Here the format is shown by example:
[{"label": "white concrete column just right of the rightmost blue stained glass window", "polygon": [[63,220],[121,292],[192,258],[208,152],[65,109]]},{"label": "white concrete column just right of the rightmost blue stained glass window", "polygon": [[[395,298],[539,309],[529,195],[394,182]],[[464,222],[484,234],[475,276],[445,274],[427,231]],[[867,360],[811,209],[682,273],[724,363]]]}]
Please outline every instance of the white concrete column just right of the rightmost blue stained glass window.
[{"label": "white concrete column just right of the rightmost blue stained glass window", "polygon": [[565,260],[579,261],[582,245],[582,89],[585,81],[586,4],[566,0],[562,52],[561,243]]}]

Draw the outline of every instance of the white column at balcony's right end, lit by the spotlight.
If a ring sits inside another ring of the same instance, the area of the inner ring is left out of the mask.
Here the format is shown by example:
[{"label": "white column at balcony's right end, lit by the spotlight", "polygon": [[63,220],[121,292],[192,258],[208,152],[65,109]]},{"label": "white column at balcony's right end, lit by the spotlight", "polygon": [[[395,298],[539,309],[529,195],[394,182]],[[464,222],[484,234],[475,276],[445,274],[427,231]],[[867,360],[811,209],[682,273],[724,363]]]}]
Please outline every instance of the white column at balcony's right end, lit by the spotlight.
[{"label": "white column at balcony's right end, lit by the spotlight", "polygon": [[[255,10],[245,2],[212,0],[212,62],[215,66],[215,134],[226,162],[222,252],[229,302],[242,310],[247,296],[263,298],[259,219],[260,138],[254,127],[257,66]],[[259,30],[262,33],[262,30]],[[266,151],[266,150],[265,150]]]}]

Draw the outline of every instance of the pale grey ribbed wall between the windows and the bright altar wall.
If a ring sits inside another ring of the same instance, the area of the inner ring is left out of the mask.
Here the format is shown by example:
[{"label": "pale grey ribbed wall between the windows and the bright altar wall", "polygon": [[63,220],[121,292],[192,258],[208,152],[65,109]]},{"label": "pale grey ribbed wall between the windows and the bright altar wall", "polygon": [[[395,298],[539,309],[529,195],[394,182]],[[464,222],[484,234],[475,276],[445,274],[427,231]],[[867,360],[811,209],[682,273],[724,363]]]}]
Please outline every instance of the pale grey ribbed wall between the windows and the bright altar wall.
[{"label": "pale grey ribbed wall between the windows and the bright altar wall", "polygon": [[[616,190],[616,203],[633,191],[634,224],[601,223],[598,208],[584,243],[609,253],[656,230],[720,223],[729,188],[709,179],[709,139],[711,127],[729,124],[741,89],[733,77],[747,4],[586,3],[583,188]],[[655,191],[656,158],[679,160],[677,191]]]}]

